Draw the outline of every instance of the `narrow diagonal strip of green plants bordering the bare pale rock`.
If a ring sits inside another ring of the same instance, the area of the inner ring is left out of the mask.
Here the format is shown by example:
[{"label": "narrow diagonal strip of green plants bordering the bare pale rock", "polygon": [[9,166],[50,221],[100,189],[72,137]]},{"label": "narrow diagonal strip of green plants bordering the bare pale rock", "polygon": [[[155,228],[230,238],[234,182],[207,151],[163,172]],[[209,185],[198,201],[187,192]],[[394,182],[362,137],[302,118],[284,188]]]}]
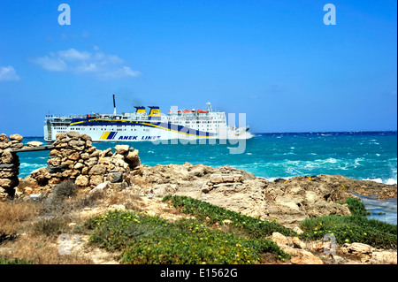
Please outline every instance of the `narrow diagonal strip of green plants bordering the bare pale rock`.
[{"label": "narrow diagonal strip of green plants bordering the bare pale rock", "polygon": [[172,206],[183,213],[193,215],[208,225],[229,225],[233,229],[246,233],[251,238],[264,238],[272,232],[280,232],[286,236],[296,236],[296,233],[276,222],[268,222],[255,217],[241,215],[232,210],[214,206],[186,196],[165,196],[165,202],[171,201]]}]

